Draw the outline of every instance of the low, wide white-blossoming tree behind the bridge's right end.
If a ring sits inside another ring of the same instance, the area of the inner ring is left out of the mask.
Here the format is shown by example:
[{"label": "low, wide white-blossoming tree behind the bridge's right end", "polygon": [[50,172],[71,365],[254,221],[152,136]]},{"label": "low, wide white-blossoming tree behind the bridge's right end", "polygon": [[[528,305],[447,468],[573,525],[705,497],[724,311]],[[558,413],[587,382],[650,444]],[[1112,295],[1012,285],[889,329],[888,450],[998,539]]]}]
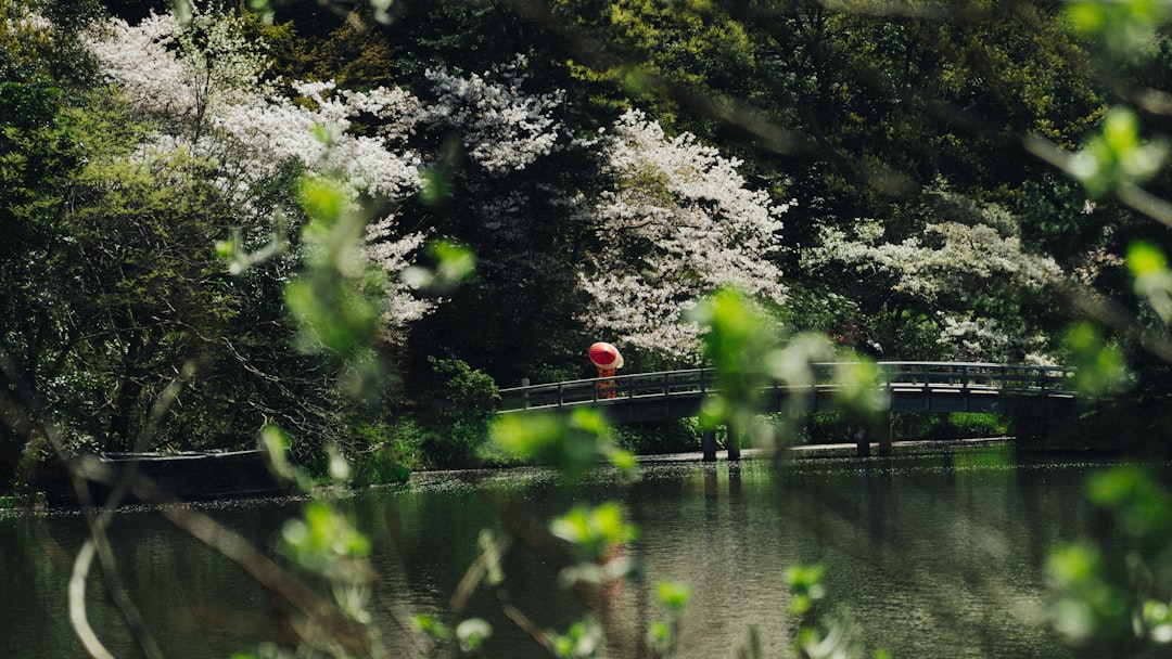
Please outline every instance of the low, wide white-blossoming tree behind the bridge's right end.
[{"label": "low, wide white-blossoming tree behind the bridge's right end", "polygon": [[918,221],[904,238],[893,222],[858,219],[847,229],[825,227],[802,267],[854,280],[859,295],[914,309],[939,329],[946,356],[970,361],[1045,362],[1044,339],[1023,322],[1015,295],[1059,281],[1054,259],[1022,246],[1016,218],[997,204],[976,204],[938,190],[912,210]]}]

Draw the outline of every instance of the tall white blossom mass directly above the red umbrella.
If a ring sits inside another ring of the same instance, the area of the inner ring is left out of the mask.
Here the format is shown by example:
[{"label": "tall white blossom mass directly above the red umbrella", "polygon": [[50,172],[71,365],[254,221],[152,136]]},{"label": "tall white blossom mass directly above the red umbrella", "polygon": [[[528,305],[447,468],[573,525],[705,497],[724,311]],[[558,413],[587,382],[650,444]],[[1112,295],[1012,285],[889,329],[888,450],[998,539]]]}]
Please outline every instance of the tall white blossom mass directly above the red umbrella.
[{"label": "tall white blossom mass directly above the red umbrella", "polygon": [[620,341],[694,356],[700,328],[684,321],[700,297],[736,286],[782,303],[781,215],[792,204],[745,187],[740,162],[691,133],[668,138],[632,110],[600,140],[604,174],[592,212],[604,246],[581,275],[592,304],[585,318]]}]

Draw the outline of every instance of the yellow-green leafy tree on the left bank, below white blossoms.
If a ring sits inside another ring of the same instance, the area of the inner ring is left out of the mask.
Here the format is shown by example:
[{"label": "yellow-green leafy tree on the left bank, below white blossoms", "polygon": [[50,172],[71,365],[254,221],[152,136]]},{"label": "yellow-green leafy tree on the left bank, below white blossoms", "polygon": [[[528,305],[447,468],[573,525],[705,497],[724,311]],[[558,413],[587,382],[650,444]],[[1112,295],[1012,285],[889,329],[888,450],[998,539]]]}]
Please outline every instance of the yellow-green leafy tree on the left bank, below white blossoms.
[{"label": "yellow-green leafy tree on the left bank, below white blossoms", "polygon": [[[36,266],[39,276],[26,273],[22,280],[40,282],[40,295],[55,303],[29,300],[41,311],[28,317],[42,318],[42,329],[23,336],[39,336],[43,352],[15,353],[30,358],[29,380],[67,411],[70,435],[102,437],[108,448],[125,449],[150,401],[182,372],[179,365],[212,368],[205,350],[244,306],[241,290],[225,281],[210,249],[209,235],[230,219],[207,183],[207,163],[183,150],[134,156],[145,128],[109,98],[95,95],[84,108],[66,110],[62,125],[84,144],[84,166],[64,187],[73,202],[46,206],[22,221],[39,227],[32,235],[47,254]],[[46,315],[55,318],[43,324]],[[50,327],[57,334],[46,334]],[[40,370],[50,356],[57,370]],[[189,399],[192,412],[218,407],[218,392],[197,392]],[[186,439],[223,442],[216,424],[229,420],[209,413],[206,425],[188,428]],[[81,423],[70,427],[71,421]],[[165,442],[170,431],[164,425],[154,439]]]}]

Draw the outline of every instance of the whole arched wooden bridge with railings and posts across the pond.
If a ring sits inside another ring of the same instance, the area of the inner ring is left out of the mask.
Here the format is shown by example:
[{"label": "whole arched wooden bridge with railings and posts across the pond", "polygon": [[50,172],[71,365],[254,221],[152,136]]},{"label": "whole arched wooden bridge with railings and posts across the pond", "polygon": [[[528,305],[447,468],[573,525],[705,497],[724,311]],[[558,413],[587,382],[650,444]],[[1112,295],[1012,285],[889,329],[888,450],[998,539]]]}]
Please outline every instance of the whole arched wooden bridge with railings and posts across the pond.
[{"label": "whole arched wooden bridge with railings and posts across the pond", "polygon": [[[762,412],[819,412],[838,409],[836,380],[846,364],[813,364],[808,384],[775,382],[763,387]],[[1074,372],[1061,366],[965,362],[879,362],[878,387],[890,412],[996,412],[1045,419],[1075,399]],[[694,417],[707,397],[720,393],[713,369],[686,369],[502,389],[502,413],[590,406],[616,424]],[[890,448],[890,431],[880,435]],[[870,447],[870,441],[866,444]],[[706,444],[706,459],[711,453]],[[859,453],[864,440],[859,439]],[[730,451],[730,457],[732,451]]]}]

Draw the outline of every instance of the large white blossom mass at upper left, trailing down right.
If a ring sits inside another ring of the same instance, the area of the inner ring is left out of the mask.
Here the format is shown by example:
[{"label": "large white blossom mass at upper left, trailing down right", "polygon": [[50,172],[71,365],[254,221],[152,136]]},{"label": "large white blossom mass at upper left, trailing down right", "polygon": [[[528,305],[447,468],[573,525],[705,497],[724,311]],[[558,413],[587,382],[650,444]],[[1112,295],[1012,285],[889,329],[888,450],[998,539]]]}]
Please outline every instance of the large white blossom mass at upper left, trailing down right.
[{"label": "large white blossom mass at upper left, trailing down right", "polygon": [[[257,197],[289,162],[311,176],[341,173],[355,199],[396,199],[418,187],[421,159],[400,144],[418,118],[416,98],[382,88],[335,94],[331,82],[297,84],[312,108],[278,97],[260,83],[265,61],[237,20],[197,12],[185,29],[171,14],[151,14],[137,26],[114,19],[88,32],[87,46],[103,75],[132,110],[156,119],[164,131],[192,126],[161,132],[144,145],[144,158],[189,149],[213,159],[219,169],[214,183],[251,234],[272,229],[267,206]],[[193,39],[192,30],[202,37]],[[374,137],[348,132],[359,115],[381,119],[381,131]],[[367,235],[367,255],[389,274],[383,300],[388,337],[434,307],[400,277],[423,234],[396,233],[393,224],[394,218],[384,218]]]}]

